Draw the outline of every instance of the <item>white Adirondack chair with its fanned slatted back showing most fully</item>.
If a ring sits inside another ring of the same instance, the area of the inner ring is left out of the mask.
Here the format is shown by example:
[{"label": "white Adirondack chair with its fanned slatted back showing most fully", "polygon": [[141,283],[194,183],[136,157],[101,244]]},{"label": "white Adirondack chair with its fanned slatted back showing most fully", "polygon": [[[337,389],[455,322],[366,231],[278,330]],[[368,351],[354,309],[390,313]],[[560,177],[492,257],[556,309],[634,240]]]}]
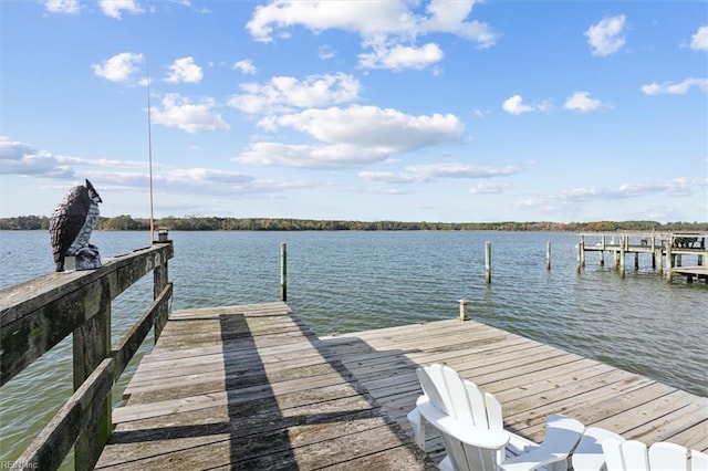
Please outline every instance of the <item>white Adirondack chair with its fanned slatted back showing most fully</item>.
[{"label": "white Adirondack chair with its fanned slatted back showing most fully", "polygon": [[[447,457],[442,470],[521,471],[549,467],[568,469],[568,456],[577,444],[584,426],[562,415],[550,416],[541,446],[503,429],[501,405],[489,393],[462,378],[455,369],[434,364],[417,369],[423,396],[408,414],[416,443],[425,450],[425,423],[438,429]],[[522,454],[504,460],[512,441]],[[527,447],[524,448],[524,444]]]}]

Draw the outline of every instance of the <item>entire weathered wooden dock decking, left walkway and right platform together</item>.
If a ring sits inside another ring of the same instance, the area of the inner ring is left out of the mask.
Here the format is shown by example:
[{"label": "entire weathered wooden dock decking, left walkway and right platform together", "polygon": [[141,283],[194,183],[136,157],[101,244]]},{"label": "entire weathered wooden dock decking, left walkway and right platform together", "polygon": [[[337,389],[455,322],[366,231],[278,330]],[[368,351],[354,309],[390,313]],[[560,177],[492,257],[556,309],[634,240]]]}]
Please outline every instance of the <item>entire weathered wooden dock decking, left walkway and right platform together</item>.
[{"label": "entire weathered wooden dock decking, left walkway and right platform together", "polygon": [[405,415],[418,365],[493,393],[534,441],[553,412],[647,443],[708,450],[708,399],[458,320],[317,338],[284,303],[170,314],[113,412],[96,465],[119,469],[435,469]]}]

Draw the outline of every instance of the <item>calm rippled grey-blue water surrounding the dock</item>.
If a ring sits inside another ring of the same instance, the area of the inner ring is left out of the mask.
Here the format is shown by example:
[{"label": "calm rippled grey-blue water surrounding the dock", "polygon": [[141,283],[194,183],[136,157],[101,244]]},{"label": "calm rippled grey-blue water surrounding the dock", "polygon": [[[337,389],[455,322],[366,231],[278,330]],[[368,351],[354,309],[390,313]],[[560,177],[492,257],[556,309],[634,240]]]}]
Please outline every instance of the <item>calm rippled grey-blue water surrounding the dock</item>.
[{"label": "calm rippled grey-blue water surrounding the dock", "polygon": [[[173,232],[170,238],[175,310],[277,301],[280,243],[287,242],[288,303],[317,334],[450,318],[465,297],[476,321],[708,396],[708,286],[668,284],[648,257],[639,259],[638,271],[628,261],[625,280],[612,270],[610,257],[604,269],[589,257],[577,274],[574,233]],[[489,286],[486,241],[492,243]],[[92,242],[111,257],[147,245],[149,237],[95,232]],[[0,287],[53,269],[44,231],[0,231]],[[148,275],[117,299],[115,339],[150,296]],[[67,339],[0,389],[0,460],[15,458],[63,404],[71,375]]]}]

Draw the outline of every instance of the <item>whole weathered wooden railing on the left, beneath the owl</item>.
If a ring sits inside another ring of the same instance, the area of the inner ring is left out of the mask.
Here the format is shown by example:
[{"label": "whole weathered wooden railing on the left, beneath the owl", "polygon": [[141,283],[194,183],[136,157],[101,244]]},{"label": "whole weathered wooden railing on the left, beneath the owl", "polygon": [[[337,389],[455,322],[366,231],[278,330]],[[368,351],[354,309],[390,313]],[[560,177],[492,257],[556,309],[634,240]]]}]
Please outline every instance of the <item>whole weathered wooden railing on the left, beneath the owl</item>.
[{"label": "whole weathered wooden railing on the left, beneath the owl", "polygon": [[[104,260],[92,271],[51,273],[0,291],[0,386],[73,334],[74,394],[13,469],[52,470],[74,447],[76,470],[92,469],[112,433],[112,388],[155,327],[167,322],[173,285],[171,242],[160,241]],[[111,304],[148,272],[154,302],[116,345],[111,345]]]}]

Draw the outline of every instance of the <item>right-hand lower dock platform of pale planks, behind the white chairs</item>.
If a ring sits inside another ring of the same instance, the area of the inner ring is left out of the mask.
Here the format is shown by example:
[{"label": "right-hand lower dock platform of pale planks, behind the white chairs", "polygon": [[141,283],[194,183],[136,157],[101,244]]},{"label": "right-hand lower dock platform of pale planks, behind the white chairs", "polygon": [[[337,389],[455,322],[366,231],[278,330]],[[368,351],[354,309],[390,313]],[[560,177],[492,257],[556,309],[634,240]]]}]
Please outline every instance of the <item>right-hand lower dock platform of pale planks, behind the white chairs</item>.
[{"label": "right-hand lower dock platform of pale planks, behind the white chairs", "polygon": [[[543,440],[550,414],[568,414],[650,444],[708,451],[708,398],[476,322],[431,322],[322,337],[376,401],[409,431],[416,367],[445,363],[501,401],[504,423]],[[439,439],[428,442],[439,452]]]}]

